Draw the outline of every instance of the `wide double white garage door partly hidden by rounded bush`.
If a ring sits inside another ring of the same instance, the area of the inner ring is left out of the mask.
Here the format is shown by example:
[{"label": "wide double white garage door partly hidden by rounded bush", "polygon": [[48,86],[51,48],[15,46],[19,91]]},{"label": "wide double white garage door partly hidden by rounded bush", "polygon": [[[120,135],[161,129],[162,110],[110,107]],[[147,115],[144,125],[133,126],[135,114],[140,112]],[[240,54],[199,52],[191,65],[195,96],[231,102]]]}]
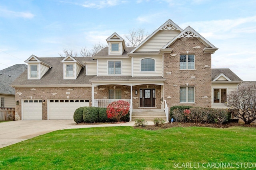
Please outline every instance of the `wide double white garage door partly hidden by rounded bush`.
[{"label": "wide double white garage door partly hidden by rounded bush", "polygon": [[50,120],[71,120],[77,108],[89,106],[89,99],[48,100]]}]

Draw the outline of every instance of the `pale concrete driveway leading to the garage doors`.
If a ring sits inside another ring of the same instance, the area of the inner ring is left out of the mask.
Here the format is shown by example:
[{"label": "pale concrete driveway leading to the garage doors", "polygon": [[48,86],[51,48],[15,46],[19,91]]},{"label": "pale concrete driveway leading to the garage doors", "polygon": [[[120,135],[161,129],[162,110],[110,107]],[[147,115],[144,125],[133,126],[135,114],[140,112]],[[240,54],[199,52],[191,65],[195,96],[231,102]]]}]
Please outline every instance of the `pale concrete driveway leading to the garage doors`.
[{"label": "pale concrete driveway leading to the garage doors", "polygon": [[0,148],[52,131],[70,128],[74,120],[19,120],[0,123]]}]

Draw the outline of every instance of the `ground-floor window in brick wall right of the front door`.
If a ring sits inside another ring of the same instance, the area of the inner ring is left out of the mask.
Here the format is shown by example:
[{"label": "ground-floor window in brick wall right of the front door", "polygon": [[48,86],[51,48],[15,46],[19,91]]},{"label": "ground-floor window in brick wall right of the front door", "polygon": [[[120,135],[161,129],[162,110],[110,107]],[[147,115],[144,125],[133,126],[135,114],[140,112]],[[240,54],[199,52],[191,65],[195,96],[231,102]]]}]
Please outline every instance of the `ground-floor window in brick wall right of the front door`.
[{"label": "ground-floor window in brick wall right of the front door", "polygon": [[195,88],[194,86],[180,87],[180,103],[194,103]]}]

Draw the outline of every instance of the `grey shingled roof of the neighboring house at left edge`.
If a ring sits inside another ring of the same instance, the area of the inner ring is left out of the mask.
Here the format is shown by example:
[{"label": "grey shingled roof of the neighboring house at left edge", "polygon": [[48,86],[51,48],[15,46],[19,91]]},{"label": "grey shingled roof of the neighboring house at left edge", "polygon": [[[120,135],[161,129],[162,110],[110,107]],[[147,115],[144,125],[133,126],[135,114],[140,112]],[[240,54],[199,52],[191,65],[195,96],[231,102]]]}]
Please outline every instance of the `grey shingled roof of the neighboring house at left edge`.
[{"label": "grey shingled roof of the neighboring house at left edge", "polygon": [[0,94],[15,95],[15,89],[12,88],[10,84],[20,76],[27,67],[26,64],[15,64],[0,70]]}]

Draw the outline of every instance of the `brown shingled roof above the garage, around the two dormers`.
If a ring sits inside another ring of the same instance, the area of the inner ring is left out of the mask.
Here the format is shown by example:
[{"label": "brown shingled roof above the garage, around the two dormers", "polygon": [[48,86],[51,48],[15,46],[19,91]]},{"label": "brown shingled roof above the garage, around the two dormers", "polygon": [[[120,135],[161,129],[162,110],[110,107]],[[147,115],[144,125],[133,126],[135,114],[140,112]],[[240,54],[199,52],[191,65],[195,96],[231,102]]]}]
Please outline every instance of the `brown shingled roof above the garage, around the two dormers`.
[{"label": "brown shingled roof above the garage, around the two dormers", "polygon": [[[12,82],[13,87],[62,87],[62,86],[86,86],[90,84],[89,79],[94,76],[86,76],[85,68],[82,68],[76,79],[63,79],[63,57],[40,58],[48,62],[50,68],[41,79],[28,80],[28,71],[24,71],[16,80]],[[92,57],[74,57],[80,63],[82,61],[92,61]]]}]

